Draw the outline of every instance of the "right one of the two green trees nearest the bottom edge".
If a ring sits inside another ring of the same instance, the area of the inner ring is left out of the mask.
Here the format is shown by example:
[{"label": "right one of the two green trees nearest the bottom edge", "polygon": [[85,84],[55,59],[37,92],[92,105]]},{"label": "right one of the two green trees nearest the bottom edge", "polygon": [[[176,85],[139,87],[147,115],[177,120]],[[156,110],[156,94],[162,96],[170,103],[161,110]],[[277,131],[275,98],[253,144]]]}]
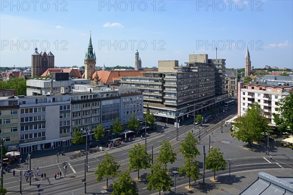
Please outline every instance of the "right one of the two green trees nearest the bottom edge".
[{"label": "right one of the two green trees nearest the bottom edge", "polygon": [[166,167],[162,168],[160,164],[155,164],[151,166],[151,171],[153,174],[147,174],[147,185],[146,189],[157,190],[161,195],[161,190],[163,192],[169,191],[171,192],[171,187],[173,186],[173,181],[168,177],[168,170]]}]

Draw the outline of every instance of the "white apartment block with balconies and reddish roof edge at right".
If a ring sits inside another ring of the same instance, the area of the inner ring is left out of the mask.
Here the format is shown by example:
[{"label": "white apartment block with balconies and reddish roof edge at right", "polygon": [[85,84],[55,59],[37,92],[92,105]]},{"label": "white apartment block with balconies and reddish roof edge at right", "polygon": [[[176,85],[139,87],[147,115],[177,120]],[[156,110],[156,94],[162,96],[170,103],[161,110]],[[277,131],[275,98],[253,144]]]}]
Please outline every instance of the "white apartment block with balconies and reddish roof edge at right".
[{"label": "white apartment block with balconies and reddish roof edge at right", "polygon": [[257,102],[264,110],[269,125],[275,126],[273,113],[281,98],[289,96],[292,86],[278,86],[258,83],[238,83],[238,116],[242,116],[252,103]]}]

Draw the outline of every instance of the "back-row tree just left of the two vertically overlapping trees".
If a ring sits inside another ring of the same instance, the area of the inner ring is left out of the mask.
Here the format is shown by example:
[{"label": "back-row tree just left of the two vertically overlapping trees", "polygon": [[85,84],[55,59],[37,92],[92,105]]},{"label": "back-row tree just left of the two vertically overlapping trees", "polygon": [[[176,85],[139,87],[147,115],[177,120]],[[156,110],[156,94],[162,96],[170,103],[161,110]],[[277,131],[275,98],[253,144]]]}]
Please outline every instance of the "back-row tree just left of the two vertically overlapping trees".
[{"label": "back-row tree just left of the two vertically overlapping trees", "polygon": [[165,168],[167,167],[167,163],[171,164],[176,160],[176,153],[173,153],[173,148],[171,143],[167,140],[164,140],[161,144],[160,154],[158,155],[157,162],[161,165],[164,164]]}]

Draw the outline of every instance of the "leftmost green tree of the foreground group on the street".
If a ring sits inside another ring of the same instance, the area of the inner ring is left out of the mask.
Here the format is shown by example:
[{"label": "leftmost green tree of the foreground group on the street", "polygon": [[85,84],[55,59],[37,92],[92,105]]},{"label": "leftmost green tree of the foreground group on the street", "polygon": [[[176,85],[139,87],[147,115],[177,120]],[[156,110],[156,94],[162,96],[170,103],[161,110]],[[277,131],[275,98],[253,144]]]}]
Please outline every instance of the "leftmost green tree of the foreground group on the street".
[{"label": "leftmost green tree of the foreground group on the street", "polygon": [[95,171],[97,175],[97,181],[102,181],[103,177],[107,178],[107,187],[108,187],[108,177],[109,176],[117,176],[118,169],[120,165],[118,162],[114,161],[114,156],[109,155],[108,153],[104,153],[105,159],[102,160],[100,164],[98,164],[98,168]]}]

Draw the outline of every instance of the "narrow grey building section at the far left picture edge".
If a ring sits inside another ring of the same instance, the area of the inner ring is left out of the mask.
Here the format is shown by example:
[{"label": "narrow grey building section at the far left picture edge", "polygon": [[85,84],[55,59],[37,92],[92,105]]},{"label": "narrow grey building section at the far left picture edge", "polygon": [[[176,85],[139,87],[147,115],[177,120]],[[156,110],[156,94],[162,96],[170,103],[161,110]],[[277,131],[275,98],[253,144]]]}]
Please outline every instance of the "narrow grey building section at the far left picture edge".
[{"label": "narrow grey building section at the far left picture edge", "polygon": [[0,97],[0,135],[8,151],[19,147],[19,102],[17,98]]}]

